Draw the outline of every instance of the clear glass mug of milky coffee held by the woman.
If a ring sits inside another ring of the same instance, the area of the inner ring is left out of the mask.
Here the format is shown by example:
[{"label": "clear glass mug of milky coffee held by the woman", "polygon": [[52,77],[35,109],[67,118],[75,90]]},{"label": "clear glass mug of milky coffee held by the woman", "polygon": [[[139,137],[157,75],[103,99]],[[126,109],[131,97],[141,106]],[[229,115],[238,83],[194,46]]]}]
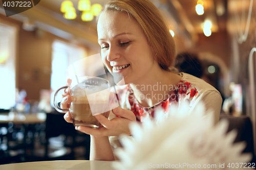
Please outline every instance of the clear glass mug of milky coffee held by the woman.
[{"label": "clear glass mug of milky coffee held by the woman", "polygon": [[65,88],[68,88],[68,86],[63,86],[56,90],[54,108],[60,113],[70,111],[74,126],[99,128],[100,123],[94,116],[97,114],[105,116],[110,112],[110,82],[99,77],[79,77],[79,83],[71,87],[70,90],[70,108],[61,109],[57,105],[56,96],[59,90]]}]

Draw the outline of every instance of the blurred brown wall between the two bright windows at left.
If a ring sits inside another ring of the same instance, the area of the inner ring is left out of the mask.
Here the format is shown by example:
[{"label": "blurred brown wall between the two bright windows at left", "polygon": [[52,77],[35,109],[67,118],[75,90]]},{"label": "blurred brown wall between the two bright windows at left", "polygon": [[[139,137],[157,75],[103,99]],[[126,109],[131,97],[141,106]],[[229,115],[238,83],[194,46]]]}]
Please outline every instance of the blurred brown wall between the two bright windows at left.
[{"label": "blurred brown wall between the two bright windows at left", "polygon": [[[25,89],[29,100],[39,100],[41,89],[51,89],[52,43],[54,40],[69,42],[47,31],[25,31],[23,23],[0,14],[0,21],[15,23],[19,27],[17,38],[17,83]],[[82,45],[81,45],[82,46]],[[83,46],[88,49],[86,46]],[[96,54],[87,50],[89,55]]]}]

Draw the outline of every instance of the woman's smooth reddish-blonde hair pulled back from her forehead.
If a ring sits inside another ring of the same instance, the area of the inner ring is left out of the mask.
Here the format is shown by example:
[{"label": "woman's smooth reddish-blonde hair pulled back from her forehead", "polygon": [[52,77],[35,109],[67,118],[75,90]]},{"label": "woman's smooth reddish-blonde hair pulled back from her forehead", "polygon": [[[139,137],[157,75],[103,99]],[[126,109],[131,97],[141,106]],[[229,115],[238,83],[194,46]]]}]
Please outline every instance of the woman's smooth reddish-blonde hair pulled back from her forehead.
[{"label": "woman's smooth reddish-blonde hair pulled back from her forehead", "polygon": [[157,7],[148,0],[110,0],[101,13],[109,10],[126,12],[137,20],[152,47],[154,59],[162,69],[170,71],[176,57],[175,42]]}]

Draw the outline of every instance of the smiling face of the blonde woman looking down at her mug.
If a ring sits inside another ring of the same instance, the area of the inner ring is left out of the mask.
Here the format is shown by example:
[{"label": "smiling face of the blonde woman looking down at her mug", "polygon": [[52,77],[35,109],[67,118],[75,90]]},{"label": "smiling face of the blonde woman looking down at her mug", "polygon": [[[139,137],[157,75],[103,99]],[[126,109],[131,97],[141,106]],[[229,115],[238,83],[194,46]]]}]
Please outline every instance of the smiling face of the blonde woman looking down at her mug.
[{"label": "smiling face of the blonde woman looking down at her mug", "polygon": [[106,11],[98,20],[101,58],[110,72],[123,75],[125,84],[139,83],[159,67],[137,21],[123,12]]}]

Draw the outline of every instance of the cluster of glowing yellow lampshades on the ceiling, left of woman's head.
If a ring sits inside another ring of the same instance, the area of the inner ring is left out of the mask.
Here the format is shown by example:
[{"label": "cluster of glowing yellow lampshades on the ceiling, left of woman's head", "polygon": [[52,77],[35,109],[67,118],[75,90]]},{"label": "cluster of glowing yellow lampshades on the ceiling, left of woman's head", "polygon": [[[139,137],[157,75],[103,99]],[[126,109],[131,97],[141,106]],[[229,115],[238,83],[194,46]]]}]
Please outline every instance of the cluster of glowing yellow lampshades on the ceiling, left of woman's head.
[{"label": "cluster of glowing yellow lampshades on the ceiling, left of woman's head", "polygon": [[[90,0],[80,0],[77,8],[79,11],[82,11],[82,21],[91,21],[94,16],[97,16],[100,13],[102,6],[100,4],[93,4],[91,6]],[[75,19],[77,16],[71,1],[63,1],[61,3],[60,11],[64,13],[63,17],[66,19]]]}]

